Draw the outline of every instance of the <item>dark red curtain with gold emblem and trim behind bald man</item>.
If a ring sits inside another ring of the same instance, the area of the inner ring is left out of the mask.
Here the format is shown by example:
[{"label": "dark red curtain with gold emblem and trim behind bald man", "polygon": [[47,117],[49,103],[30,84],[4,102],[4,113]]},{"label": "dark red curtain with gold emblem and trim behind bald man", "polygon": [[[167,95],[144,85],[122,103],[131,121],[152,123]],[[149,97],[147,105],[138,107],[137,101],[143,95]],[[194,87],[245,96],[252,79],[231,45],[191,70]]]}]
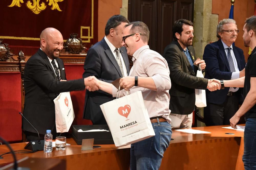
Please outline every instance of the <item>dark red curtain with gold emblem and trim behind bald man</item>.
[{"label": "dark red curtain with gold emblem and trim behind bald man", "polygon": [[[58,29],[64,40],[67,40],[71,33],[77,33],[87,48],[98,42],[97,0],[49,0],[47,2],[46,0],[36,0],[39,2],[38,4],[33,4],[32,0],[23,2],[0,1],[3,15],[0,38],[3,38],[3,42],[8,43],[9,47],[15,50],[14,54],[17,55],[22,49],[25,55],[33,55],[40,46],[39,35],[47,27]],[[29,6],[27,4],[30,3],[30,8],[31,6],[35,7],[34,9],[37,9],[39,14],[35,14],[35,11],[33,12],[27,7]],[[39,9],[42,7],[45,9],[40,11]]]}]

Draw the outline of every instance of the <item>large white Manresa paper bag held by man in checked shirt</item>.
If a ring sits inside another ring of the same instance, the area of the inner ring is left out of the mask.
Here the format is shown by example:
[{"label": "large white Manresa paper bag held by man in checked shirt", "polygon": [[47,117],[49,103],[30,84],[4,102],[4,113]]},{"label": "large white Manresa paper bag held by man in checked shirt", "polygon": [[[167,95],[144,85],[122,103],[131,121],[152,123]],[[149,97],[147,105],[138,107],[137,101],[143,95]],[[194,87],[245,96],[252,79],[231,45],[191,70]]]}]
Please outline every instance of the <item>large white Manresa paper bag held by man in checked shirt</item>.
[{"label": "large white Manresa paper bag held by man in checked shirt", "polygon": [[155,136],[141,91],[100,105],[115,146]]}]

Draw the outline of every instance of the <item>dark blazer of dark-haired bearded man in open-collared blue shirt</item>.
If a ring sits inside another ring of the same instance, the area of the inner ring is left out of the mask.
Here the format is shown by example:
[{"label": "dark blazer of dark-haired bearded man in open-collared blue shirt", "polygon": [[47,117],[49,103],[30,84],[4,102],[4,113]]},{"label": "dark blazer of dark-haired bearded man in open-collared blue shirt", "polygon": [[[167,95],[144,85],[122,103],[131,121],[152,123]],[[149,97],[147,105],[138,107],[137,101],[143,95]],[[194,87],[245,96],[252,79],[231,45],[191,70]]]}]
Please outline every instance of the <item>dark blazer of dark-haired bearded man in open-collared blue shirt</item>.
[{"label": "dark blazer of dark-haired bearded man in open-collared blue shirt", "polygon": [[[187,47],[191,57],[196,60],[195,50],[192,46]],[[208,79],[196,77],[195,70],[191,67],[182,47],[178,41],[173,41],[164,49],[169,70],[172,87],[169,90],[171,113],[190,114],[195,108],[195,89],[206,89]]]}]

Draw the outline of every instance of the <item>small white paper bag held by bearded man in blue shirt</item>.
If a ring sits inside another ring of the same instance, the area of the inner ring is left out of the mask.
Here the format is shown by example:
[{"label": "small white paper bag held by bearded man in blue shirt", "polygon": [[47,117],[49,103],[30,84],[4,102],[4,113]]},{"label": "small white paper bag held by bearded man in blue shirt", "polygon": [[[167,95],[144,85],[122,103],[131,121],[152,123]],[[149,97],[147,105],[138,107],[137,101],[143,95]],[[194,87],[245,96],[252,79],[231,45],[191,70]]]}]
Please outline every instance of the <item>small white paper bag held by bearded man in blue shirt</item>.
[{"label": "small white paper bag held by bearded man in blue shirt", "polygon": [[[204,75],[203,75],[202,70],[200,68],[200,64],[199,64],[199,70],[197,70],[196,76],[204,78]],[[196,94],[196,107],[206,107],[205,90],[195,89],[195,94]]]}]

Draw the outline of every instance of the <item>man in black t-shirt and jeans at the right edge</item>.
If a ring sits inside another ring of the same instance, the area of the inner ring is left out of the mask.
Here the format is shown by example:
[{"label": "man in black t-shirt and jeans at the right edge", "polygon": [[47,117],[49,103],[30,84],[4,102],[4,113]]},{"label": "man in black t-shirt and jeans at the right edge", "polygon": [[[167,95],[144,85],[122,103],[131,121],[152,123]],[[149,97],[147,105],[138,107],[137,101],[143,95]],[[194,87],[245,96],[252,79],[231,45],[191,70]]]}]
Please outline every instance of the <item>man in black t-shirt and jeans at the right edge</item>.
[{"label": "man in black t-shirt and jeans at the right edge", "polygon": [[221,81],[221,87],[244,87],[244,102],[230,119],[230,125],[237,128],[240,117],[245,114],[244,169],[256,169],[256,16],[246,19],[243,27],[244,46],[253,49],[245,67],[245,77]]}]

